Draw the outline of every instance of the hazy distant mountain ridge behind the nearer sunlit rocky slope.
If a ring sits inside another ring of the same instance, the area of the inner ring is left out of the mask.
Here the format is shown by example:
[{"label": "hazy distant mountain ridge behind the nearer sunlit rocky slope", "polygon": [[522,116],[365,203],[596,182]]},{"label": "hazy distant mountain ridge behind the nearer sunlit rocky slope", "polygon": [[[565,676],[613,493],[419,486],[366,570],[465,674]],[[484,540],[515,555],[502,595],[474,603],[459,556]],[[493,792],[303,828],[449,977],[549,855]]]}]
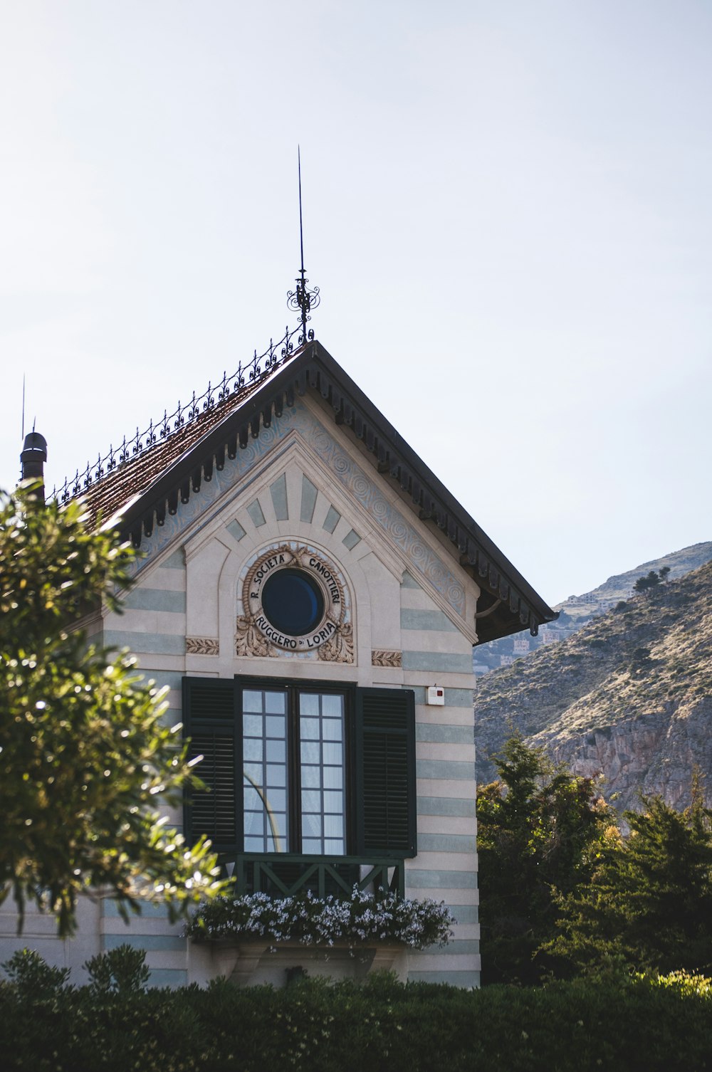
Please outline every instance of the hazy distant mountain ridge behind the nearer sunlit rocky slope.
[{"label": "hazy distant mountain ridge behind the nearer sunlit rocky slope", "polygon": [[493,640],[489,644],[475,647],[473,652],[475,673],[480,675],[498,667],[508,666],[515,659],[529,655],[545,644],[565,640],[566,637],[570,637],[577,629],[587,625],[592,617],[605,614],[621,599],[628,599],[633,594],[633,585],[637,579],[649,574],[651,569],[658,572],[663,567],[667,567],[670,571],[668,579],[677,580],[710,561],[712,561],[712,541],[693,544],[692,547],[684,547],[681,551],[663,555],[662,559],[643,562],[640,566],[628,569],[625,574],[609,577],[592,592],[584,592],[583,595],[579,596],[568,596],[567,599],[553,608],[559,611],[558,621],[544,626],[539,630],[538,637],[530,637],[520,632],[514,637]]}]

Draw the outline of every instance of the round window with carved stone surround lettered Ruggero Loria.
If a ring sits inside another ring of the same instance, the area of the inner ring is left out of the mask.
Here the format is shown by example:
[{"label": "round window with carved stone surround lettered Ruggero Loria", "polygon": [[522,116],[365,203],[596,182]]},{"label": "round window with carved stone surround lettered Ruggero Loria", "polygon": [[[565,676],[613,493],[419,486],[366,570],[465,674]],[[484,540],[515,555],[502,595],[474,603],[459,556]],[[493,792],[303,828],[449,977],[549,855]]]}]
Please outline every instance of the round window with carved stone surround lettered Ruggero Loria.
[{"label": "round window with carved stone surround lettered Ruggero Loria", "polygon": [[236,654],[353,662],[350,602],[340,571],[321,551],[298,544],[266,549],[242,582]]}]

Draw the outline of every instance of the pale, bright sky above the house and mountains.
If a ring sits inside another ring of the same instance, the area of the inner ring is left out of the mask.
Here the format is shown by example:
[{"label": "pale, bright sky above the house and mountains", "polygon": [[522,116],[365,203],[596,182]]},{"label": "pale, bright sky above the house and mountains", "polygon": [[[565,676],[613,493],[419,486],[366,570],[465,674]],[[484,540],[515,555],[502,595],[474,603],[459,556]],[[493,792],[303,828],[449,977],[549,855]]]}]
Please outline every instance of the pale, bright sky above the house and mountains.
[{"label": "pale, bright sky above the house and mountains", "polygon": [[0,487],[316,338],[540,595],[712,538],[709,0],[0,0]]}]

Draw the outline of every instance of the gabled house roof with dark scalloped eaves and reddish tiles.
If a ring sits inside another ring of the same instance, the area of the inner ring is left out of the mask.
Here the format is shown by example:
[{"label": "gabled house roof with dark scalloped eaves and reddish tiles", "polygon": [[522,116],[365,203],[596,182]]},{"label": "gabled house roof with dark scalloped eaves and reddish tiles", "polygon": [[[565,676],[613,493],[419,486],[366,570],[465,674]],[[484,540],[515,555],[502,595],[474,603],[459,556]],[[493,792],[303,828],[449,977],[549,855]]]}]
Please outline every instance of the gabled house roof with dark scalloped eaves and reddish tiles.
[{"label": "gabled house roof with dark scalloped eaves and reddish tiles", "polygon": [[[180,441],[168,436],[123,468],[102,477],[90,489],[90,511],[101,510],[104,518],[121,511],[121,526],[137,546],[152,545],[161,528],[175,534],[177,527],[209,512],[212,489],[218,489],[218,497],[224,492],[223,475],[231,463],[237,462],[238,468],[246,471],[255,452],[264,455],[272,448],[285,421],[301,412],[299,402],[305,398],[321,402],[324,419],[331,422],[326,438],[342,446],[347,441],[359,448],[364,472],[371,470],[370,482],[374,483],[374,477],[383,479],[391,491],[391,505],[400,501],[401,516],[407,516],[421,541],[429,544],[426,536],[434,536],[443,548],[443,559],[454,560],[456,569],[464,568],[474,579],[483,592],[480,640],[524,627],[536,631],[540,623],[555,616],[316,342],[277,362],[244,396],[238,392],[196,416],[190,427],[180,429]],[[318,445],[315,450],[323,458]],[[336,475],[338,486],[340,475]],[[233,477],[228,472],[228,482]],[[388,495],[384,497],[388,501]]]}]

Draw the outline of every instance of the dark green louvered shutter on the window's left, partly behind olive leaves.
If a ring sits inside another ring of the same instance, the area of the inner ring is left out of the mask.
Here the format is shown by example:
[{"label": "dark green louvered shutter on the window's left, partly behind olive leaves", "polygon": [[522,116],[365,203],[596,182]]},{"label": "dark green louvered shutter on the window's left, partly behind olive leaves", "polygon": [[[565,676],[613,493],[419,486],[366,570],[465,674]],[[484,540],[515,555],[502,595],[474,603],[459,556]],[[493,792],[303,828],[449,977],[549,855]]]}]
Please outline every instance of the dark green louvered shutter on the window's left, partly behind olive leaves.
[{"label": "dark green louvered shutter on the window's left, partly behind olive leaves", "polygon": [[206,834],[218,852],[241,849],[237,772],[242,769],[242,735],[237,732],[237,712],[234,681],[183,678],[183,733],[190,738],[190,758],[203,756],[195,773],[207,786],[207,791],[192,790],[186,801],[186,836],[193,843]]}]

